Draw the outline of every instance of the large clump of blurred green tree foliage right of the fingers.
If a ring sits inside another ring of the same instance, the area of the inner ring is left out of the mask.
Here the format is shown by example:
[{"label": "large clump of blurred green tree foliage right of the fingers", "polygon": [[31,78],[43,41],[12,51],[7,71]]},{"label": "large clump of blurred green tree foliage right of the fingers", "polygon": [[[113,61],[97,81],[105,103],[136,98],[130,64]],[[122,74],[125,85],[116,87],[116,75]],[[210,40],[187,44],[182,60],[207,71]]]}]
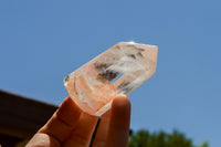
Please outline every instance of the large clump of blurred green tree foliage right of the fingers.
[{"label": "large clump of blurred green tree foliage right of the fingers", "polygon": [[173,130],[172,134],[167,134],[165,132],[149,133],[148,130],[139,130],[129,137],[129,147],[194,147],[194,146],[192,145],[191,139],[186,138],[186,136],[182,133],[179,133],[178,130]]}]

